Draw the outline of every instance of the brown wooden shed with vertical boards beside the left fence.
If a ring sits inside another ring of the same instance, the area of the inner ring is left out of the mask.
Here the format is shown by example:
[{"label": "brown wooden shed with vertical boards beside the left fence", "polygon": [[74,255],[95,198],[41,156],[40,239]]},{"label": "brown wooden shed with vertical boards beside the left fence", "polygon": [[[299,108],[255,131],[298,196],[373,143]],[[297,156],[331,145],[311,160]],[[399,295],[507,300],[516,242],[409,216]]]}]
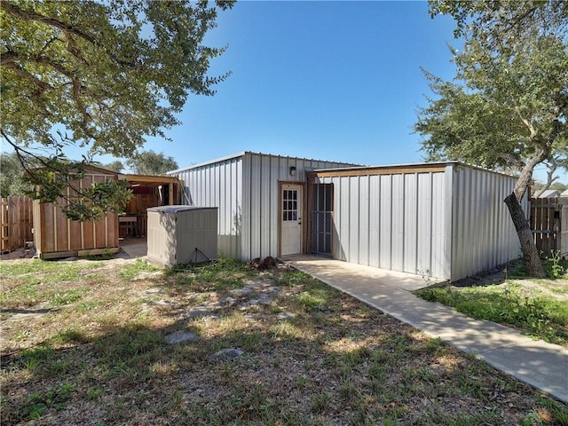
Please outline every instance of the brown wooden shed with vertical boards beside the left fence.
[{"label": "brown wooden shed with vertical boards beside the left fence", "polygon": [[[86,167],[85,177],[78,182],[82,187],[109,179],[118,179],[118,173],[97,167]],[[70,195],[69,189],[67,194]],[[87,256],[102,253],[118,253],[118,215],[108,212],[100,220],[77,222],[63,214],[56,203],[34,201],[34,244],[40,258],[50,259],[67,256]]]}]

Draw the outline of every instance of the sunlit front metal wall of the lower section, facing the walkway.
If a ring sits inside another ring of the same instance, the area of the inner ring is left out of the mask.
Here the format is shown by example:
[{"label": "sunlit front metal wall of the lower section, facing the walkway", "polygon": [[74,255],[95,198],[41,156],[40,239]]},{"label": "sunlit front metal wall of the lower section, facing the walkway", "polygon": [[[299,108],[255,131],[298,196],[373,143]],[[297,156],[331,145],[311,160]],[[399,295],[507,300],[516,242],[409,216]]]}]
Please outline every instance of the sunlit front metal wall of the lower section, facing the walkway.
[{"label": "sunlit front metal wall of the lower section, facing the walkway", "polygon": [[334,185],[335,258],[445,278],[447,230],[435,225],[447,214],[444,172],[317,181]]}]

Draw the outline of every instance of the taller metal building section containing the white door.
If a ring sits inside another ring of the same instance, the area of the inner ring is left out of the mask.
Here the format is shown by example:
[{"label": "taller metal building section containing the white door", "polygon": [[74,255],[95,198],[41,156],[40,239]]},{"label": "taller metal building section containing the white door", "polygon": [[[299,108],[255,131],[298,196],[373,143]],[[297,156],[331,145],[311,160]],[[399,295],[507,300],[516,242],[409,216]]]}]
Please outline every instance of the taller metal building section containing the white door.
[{"label": "taller metal building section containing the white door", "polygon": [[170,175],[183,182],[183,203],[218,208],[219,254],[250,260],[303,253],[306,172],[348,166],[353,164],[243,152]]}]

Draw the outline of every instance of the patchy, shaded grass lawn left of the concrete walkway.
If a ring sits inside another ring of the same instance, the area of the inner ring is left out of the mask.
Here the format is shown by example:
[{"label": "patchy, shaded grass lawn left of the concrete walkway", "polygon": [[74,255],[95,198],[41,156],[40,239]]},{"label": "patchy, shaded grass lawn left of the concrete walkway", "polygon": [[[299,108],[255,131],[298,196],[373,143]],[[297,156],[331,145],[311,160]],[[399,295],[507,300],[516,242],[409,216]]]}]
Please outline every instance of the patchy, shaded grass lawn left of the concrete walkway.
[{"label": "patchy, shaded grass lawn left of the concrete walkway", "polygon": [[2,261],[0,286],[3,425],[568,424],[566,405],[285,268]]}]

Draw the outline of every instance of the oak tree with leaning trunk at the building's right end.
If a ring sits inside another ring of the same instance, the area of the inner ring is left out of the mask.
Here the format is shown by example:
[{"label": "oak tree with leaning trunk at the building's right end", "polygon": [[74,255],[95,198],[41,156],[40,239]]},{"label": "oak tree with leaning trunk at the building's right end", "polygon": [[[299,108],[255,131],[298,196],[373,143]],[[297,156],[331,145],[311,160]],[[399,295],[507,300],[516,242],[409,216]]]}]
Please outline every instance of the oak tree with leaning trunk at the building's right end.
[{"label": "oak tree with leaning trunk at the building's right end", "polygon": [[463,51],[446,82],[425,73],[434,99],[414,130],[428,159],[461,160],[518,174],[505,202],[525,264],[544,272],[520,202],[533,170],[566,164],[568,145],[568,7],[564,1],[430,1],[432,15],[450,14]]}]

